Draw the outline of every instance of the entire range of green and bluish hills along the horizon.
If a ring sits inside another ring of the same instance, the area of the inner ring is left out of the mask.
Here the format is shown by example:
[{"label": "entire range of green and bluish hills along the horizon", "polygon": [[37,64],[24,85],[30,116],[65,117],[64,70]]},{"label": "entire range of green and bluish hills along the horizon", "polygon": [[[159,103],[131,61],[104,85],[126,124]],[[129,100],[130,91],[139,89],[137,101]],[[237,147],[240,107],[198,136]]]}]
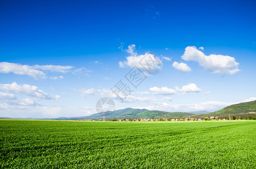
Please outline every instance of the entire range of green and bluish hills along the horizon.
[{"label": "entire range of green and bluish hills along the horizon", "polygon": [[[219,117],[219,118],[228,118],[229,114],[231,117],[235,115],[236,117],[255,117],[256,116],[256,100],[250,101],[246,103],[239,103],[225,107],[224,109],[218,110],[216,112],[207,112],[207,111],[199,111],[199,112],[164,112],[159,110],[147,110],[147,109],[120,109],[114,110],[112,112],[105,112],[105,119],[140,119],[140,118],[205,118],[205,117]],[[60,117],[54,118],[60,120],[83,120],[83,119],[94,119],[94,120],[102,120],[103,113],[96,113],[89,116],[84,117]]]}]

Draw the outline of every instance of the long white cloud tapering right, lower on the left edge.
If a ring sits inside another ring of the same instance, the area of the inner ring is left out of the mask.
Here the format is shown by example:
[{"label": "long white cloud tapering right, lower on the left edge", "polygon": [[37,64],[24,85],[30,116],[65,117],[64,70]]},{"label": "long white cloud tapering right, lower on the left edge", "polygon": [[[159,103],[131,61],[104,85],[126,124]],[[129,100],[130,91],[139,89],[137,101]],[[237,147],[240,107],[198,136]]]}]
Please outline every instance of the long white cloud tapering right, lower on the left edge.
[{"label": "long white cloud tapering right, lower on the left edge", "polygon": [[1,84],[0,89],[6,90],[8,92],[14,92],[16,94],[24,94],[31,97],[36,97],[38,99],[59,99],[59,96],[51,96],[46,94],[44,91],[39,90],[36,86],[31,86],[29,84],[23,84],[22,86],[13,82],[11,84]]}]

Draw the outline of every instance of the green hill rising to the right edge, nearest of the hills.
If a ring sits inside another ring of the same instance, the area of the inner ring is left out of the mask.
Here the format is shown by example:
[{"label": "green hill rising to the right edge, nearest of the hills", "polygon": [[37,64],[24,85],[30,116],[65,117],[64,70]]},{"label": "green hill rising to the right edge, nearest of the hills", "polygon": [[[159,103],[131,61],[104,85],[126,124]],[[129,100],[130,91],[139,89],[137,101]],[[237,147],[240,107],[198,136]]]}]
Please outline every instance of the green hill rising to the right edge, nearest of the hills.
[{"label": "green hill rising to the right edge, nearest of the hills", "polygon": [[256,116],[256,100],[245,102],[245,103],[233,104],[225,107],[224,109],[218,110],[216,112],[198,114],[198,115],[194,115],[194,117],[215,116],[215,117],[225,118],[225,117],[229,117],[229,114],[231,115],[231,117],[235,115],[236,117],[242,117],[242,118]]}]

